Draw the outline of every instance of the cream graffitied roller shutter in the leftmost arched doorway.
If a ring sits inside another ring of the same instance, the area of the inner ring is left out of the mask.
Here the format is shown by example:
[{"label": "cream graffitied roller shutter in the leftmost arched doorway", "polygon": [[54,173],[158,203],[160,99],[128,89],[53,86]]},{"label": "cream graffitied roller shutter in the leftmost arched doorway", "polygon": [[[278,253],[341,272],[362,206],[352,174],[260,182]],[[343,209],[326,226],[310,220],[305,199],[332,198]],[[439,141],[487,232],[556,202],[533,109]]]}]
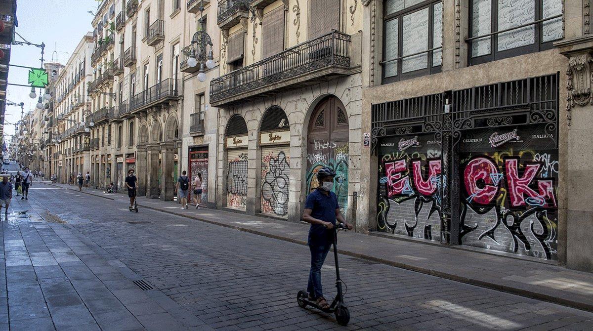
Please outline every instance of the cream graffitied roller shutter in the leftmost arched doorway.
[{"label": "cream graffitied roller shutter in the leftmost arched doorway", "polygon": [[227,207],[247,206],[247,148],[227,150]]}]

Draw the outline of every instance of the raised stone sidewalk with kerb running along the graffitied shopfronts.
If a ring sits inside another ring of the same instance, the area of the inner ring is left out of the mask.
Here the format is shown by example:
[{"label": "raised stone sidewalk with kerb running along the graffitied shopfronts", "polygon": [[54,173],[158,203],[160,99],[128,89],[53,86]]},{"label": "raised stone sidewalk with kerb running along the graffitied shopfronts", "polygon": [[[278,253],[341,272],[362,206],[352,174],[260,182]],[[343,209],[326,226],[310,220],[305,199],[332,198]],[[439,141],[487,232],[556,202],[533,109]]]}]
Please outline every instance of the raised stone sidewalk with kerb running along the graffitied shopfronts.
[{"label": "raised stone sidewalk with kerb running along the graffitied shopfronts", "polygon": [[[78,191],[68,184],[53,185]],[[104,193],[95,189],[83,189],[82,192],[129,203],[127,195],[119,193]],[[140,208],[151,208],[266,237],[307,244],[307,224],[216,209],[190,207],[181,210],[177,203],[144,197],[138,199],[138,205]],[[349,256],[385,265],[593,311],[593,273],[530,260],[352,232],[340,233],[339,250]]]}]

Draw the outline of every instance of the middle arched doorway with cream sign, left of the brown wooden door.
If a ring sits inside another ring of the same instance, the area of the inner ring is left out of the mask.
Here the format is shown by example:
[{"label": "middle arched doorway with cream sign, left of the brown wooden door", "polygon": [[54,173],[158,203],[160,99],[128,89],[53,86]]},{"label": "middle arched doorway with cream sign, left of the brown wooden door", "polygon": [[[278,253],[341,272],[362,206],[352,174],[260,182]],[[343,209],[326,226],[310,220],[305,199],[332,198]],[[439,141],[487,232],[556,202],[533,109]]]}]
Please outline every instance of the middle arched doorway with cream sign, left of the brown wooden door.
[{"label": "middle arched doorway with cream sign, left of the brown wooden door", "polygon": [[291,132],[282,108],[272,106],[266,110],[260,125],[259,142],[262,148],[262,213],[288,217]]}]

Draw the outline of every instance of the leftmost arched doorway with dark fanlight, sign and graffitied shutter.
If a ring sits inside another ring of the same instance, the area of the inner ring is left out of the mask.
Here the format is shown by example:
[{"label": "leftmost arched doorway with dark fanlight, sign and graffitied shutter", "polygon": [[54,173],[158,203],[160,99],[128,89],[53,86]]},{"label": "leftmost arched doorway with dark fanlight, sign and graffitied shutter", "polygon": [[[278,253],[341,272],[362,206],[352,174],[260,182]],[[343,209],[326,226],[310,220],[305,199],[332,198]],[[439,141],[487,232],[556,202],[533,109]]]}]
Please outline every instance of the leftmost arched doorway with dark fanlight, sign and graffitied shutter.
[{"label": "leftmost arched doorway with dark fanlight, sign and graffitied shutter", "polygon": [[227,207],[247,209],[247,123],[241,115],[229,119],[225,131],[227,149]]}]

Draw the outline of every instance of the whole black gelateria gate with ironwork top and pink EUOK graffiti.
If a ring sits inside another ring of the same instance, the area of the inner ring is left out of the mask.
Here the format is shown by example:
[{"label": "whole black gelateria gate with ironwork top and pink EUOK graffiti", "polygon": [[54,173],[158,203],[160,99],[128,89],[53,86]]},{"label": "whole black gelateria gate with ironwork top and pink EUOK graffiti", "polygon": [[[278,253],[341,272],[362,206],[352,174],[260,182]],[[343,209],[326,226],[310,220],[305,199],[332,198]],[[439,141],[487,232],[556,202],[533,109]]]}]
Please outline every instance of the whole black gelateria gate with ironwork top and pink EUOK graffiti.
[{"label": "whole black gelateria gate with ironwork top and pink EUOK graffiti", "polygon": [[378,230],[557,260],[558,104],[553,74],[372,105]]}]

